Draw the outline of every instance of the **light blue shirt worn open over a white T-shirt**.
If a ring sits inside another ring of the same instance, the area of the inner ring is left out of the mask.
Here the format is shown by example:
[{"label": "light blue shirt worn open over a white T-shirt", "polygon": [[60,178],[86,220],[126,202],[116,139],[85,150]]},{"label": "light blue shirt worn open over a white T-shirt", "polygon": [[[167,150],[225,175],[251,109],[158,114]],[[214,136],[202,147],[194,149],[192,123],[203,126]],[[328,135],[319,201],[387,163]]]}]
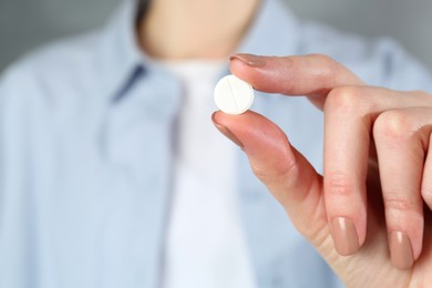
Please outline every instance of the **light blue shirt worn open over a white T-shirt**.
[{"label": "light blue shirt worn open over a white T-shirt", "polygon": [[[182,91],[140,52],[134,22],[130,0],[106,28],[34,52],[0,79],[1,288],[161,282]],[[238,51],[325,53],[369,84],[432,91],[426,71],[392,41],[301,22],[279,0],[263,2]],[[321,171],[317,109],[280,95],[258,95],[254,105]],[[340,285],[240,151],[238,174],[259,287]]]}]

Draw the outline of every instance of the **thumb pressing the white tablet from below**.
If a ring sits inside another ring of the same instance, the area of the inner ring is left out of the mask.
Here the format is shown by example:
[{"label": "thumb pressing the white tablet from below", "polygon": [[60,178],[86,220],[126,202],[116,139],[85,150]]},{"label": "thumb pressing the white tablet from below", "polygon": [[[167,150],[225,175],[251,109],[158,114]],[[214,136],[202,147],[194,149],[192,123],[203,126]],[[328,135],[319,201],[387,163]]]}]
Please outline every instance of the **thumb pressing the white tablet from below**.
[{"label": "thumb pressing the white tablet from below", "polygon": [[251,111],[241,115],[215,112],[212,119],[224,135],[243,148],[255,175],[284,206],[297,229],[316,246],[322,245],[322,236],[330,236],[322,177],[290,145],[285,133]]}]

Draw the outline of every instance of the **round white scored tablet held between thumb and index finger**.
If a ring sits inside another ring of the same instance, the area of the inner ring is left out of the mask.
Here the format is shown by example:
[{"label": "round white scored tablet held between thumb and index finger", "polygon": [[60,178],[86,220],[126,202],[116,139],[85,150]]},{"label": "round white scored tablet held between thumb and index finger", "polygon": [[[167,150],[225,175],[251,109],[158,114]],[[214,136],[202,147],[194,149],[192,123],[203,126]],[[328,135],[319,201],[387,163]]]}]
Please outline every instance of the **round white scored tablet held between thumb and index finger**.
[{"label": "round white scored tablet held between thumb and index finger", "polygon": [[227,114],[241,114],[254,102],[254,89],[235,75],[227,75],[215,88],[216,105]]}]

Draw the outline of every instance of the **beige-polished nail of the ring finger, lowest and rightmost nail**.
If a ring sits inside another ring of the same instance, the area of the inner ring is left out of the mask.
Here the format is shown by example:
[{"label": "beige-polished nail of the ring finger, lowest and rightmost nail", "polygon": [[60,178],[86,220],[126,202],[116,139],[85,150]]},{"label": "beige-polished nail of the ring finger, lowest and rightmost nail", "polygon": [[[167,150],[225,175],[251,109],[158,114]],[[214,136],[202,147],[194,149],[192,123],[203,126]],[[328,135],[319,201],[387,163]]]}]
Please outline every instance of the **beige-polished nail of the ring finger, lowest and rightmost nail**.
[{"label": "beige-polished nail of the ring finger, lowest and rightmost nail", "polygon": [[408,269],[414,263],[410,238],[402,232],[390,234],[390,257],[392,264],[399,269]]}]

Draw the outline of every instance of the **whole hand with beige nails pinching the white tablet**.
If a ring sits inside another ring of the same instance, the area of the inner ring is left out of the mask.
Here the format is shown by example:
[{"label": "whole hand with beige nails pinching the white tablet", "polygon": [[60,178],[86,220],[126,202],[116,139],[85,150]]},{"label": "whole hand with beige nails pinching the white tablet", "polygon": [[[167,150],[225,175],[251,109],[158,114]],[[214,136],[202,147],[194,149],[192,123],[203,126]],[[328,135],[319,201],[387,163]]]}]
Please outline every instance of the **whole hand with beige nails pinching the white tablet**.
[{"label": "whole hand with beige nails pinching the white tablet", "polygon": [[266,117],[216,112],[213,121],[342,281],[432,282],[432,96],[368,86],[323,55],[237,54],[230,70],[256,90],[307,95],[323,111],[323,177]]}]

